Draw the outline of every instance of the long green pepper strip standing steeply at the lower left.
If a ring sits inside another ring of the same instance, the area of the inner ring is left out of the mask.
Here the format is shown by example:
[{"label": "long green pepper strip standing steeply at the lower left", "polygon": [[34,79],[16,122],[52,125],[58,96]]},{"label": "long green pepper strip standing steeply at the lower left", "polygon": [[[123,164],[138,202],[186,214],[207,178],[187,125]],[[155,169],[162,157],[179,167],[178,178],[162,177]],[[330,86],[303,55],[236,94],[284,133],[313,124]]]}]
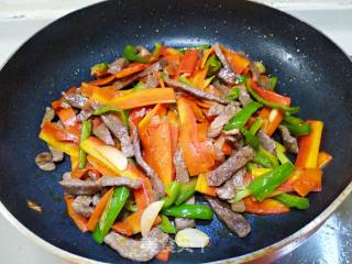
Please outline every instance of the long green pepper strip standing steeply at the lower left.
[{"label": "long green pepper strip standing steeply at the lower left", "polygon": [[129,197],[130,190],[125,186],[114,188],[113,194],[92,233],[92,238],[98,244],[102,243],[103,238],[108,234]]}]

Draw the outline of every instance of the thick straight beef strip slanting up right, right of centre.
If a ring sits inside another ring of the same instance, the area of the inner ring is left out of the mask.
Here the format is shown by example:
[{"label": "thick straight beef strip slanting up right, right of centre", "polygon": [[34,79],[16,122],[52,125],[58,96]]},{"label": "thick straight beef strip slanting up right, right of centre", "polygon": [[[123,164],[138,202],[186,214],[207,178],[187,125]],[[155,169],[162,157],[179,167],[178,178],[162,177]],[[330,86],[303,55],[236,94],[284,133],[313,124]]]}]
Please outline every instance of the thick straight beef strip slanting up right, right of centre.
[{"label": "thick straight beef strip slanting up right, right of centre", "polygon": [[235,154],[230,156],[219,167],[208,174],[208,184],[210,186],[220,186],[228,180],[237,170],[244,167],[248,162],[254,157],[254,151],[251,146],[244,146]]}]

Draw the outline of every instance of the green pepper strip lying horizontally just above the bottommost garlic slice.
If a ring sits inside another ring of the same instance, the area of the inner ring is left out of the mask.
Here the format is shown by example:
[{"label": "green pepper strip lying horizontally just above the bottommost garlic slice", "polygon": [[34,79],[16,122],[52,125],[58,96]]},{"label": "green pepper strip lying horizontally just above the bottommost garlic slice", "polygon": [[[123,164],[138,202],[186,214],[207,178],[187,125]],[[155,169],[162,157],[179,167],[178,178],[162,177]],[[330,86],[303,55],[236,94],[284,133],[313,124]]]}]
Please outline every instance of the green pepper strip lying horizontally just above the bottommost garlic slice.
[{"label": "green pepper strip lying horizontally just above the bottommost garlic slice", "polygon": [[169,207],[163,210],[163,213],[169,217],[191,218],[201,220],[211,220],[212,210],[204,205],[180,205]]}]

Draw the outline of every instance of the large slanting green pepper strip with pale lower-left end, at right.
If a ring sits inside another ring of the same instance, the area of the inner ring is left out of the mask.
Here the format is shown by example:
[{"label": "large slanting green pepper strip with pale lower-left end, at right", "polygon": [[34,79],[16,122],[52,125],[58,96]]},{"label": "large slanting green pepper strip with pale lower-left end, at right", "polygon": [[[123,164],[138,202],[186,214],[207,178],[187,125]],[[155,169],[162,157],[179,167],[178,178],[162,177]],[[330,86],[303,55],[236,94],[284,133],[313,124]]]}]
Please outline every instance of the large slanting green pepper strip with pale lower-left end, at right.
[{"label": "large slanting green pepper strip with pale lower-left end, at right", "polygon": [[295,167],[292,163],[284,163],[280,166],[256,177],[246,188],[237,193],[230,202],[238,202],[250,195],[258,201],[264,200],[278,186],[289,178]]}]

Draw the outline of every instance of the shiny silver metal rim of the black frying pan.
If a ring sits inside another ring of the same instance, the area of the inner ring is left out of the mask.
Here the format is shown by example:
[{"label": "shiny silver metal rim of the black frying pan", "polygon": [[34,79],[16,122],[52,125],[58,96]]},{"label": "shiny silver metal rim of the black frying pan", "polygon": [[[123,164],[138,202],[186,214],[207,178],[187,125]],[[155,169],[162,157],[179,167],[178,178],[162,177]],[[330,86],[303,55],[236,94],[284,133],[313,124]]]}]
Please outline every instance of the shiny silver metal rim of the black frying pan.
[{"label": "shiny silver metal rim of the black frying pan", "polygon": [[[9,63],[9,61],[22,48],[25,46],[25,44],[35,35],[40,34],[42,31],[54,24],[55,22],[65,19],[68,15],[74,15],[75,13],[78,13],[85,9],[89,9],[94,6],[102,4],[105,2],[108,2],[109,0],[103,0],[101,2],[92,3],[86,7],[82,7],[80,9],[74,10],[72,12],[68,12],[54,21],[50,22],[48,24],[44,25],[36,32],[34,32],[31,36],[25,38],[22,44],[18,46],[4,62],[0,65],[0,73],[1,70],[6,67],[6,65]],[[337,48],[339,48],[345,57],[352,63],[352,56],[350,57],[349,54],[340,46],[338,45],[333,40],[331,40],[327,34],[321,32],[319,29],[315,28],[314,25],[310,25],[308,22],[302,21],[299,18],[296,18],[286,11],[278,10],[276,8],[273,8],[271,6],[266,6],[261,2],[256,2],[253,0],[249,0],[252,4],[261,6],[262,8],[267,8],[271,10],[274,10],[276,12],[284,13],[287,16],[290,16],[292,19],[295,19],[299,21],[300,23],[305,24],[306,26],[309,26],[314,29],[316,32],[321,34],[324,38],[330,41]],[[278,251],[284,251],[285,254],[293,251],[296,249],[301,242],[304,242],[307,238],[309,238],[316,230],[318,230],[327,220],[328,218],[338,209],[338,207],[346,199],[346,197],[352,193],[352,182],[341,191],[341,194],[320,213],[318,215],[315,219],[312,219],[308,224],[306,224],[304,228],[300,230],[296,231],[295,233],[290,234],[289,237],[272,244],[266,248],[263,248],[261,250],[235,256],[235,257],[230,257],[226,260],[220,260],[211,263],[246,263],[246,262],[252,262],[255,260],[260,260],[262,257],[268,256],[270,254],[273,254]],[[80,256],[78,254],[70,253],[68,251],[65,251],[35,234],[32,232],[29,228],[26,228],[23,223],[21,223],[9,210],[8,208],[2,204],[0,200],[0,215],[10,222],[12,227],[14,227],[21,234],[26,237],[29,240],[31,240],[34,244],[41,246],[42,249],[45,249],[46,251],[51,252],[53,255],[58,256],[65,261],[68,261],[70,263],[77,263],[77,264],[108,264],[107,262],[99,262],[92,258],[87,258],[84,256]]]}]

